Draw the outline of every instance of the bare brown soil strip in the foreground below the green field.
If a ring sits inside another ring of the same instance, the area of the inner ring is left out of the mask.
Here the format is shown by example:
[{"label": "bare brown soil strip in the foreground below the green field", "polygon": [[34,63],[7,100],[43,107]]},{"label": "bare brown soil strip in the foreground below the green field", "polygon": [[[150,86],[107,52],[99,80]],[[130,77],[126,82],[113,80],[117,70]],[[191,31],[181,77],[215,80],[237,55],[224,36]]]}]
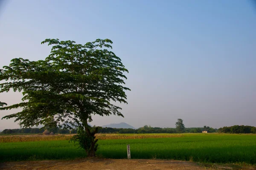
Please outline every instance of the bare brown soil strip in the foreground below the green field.
[{"label": "bare brown soil strip in the foreground below the green field", "polygon": [[153,159],[77,159],[70,161],[16,161],[0,164],[0,170],[256,170],[235,164],[199,164],[189,161]]}]

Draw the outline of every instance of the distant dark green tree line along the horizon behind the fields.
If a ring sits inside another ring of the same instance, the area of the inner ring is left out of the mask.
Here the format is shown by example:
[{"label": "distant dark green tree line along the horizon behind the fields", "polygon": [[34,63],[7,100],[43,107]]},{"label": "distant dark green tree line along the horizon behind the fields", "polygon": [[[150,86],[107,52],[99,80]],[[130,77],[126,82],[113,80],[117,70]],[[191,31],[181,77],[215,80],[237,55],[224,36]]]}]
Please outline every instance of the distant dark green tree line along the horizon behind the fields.
[{"label": "distant dark green tree line along the horizon behind the fields", "polygon": [[[182,120],[182,119],[181,119]],[[131,128],[112,128],[112,127],[97,127],[98,133],[202,133],[203,130],[206,130],[208,133],[256,133],[256,127],[253,126],[244,126],[244,125],[234,125],[230,127],[221,127],[219,129],[212,128],[209,126],[204,127],[185,127],[183,121],[177,121],[176,128],[172,127],[151,127],[150,125],[145,125],[138,129]],[[42,128],[20,128],[20,129],[5,129],[2,134],[12,134],[12,133],[43,133],[44,130],[49,130],[53,133],[58,134],[76,134],[77,130],[61,129],[58,127],[42,127]]]}]

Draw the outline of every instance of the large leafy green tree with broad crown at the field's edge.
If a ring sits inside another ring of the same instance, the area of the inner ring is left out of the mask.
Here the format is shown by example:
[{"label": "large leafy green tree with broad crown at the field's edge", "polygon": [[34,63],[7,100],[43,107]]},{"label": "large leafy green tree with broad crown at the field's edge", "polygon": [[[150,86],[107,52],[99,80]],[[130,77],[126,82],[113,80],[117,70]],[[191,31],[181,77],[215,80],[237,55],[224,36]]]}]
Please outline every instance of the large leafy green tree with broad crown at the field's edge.
[{"label": "large leafy green tree with broad crown at the field's edge", "polygon": [[[52,46],[44,60],[29,61],[15,58],[9,66],[0,69],[0,93],[20,91],[20,103],[4,106],[0,110],[22,108],[22,111],[4,116],[16,118],[23,127],[34,125],[71,128],[75,126],[86,139],[88,156],[95,156],[97,128],[92,130],[88,122],[92,115],[123,116],[115,103],[127,103],[124,79],[127,79],[121,59],[109,48],[111,40],[97,39],[85,45],[74,41],[46,39],[42,44]],[[3,119],[2,118],[2,119]]]}]

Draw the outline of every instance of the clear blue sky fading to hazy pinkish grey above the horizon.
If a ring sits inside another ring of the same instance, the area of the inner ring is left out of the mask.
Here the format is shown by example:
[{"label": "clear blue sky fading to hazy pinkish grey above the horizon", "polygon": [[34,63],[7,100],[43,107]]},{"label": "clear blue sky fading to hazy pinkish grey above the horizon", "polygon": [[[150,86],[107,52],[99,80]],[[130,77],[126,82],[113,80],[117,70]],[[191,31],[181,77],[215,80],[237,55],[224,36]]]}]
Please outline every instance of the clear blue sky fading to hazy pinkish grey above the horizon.
[{"label": "clear blue sky fading to hazy pinkish grey above the horizon", "polygon": [[[2,0],[0,68],[45,59],[46,38],[113,41],[128,68],[125,118],[91,125],[219,128],[256,126],[256,5],[253,0]],[[8,105],[22,94],[0,94]],[[0,111],[0,117],[17,110]],[[0,129],[18,128],[14,119]]]}]

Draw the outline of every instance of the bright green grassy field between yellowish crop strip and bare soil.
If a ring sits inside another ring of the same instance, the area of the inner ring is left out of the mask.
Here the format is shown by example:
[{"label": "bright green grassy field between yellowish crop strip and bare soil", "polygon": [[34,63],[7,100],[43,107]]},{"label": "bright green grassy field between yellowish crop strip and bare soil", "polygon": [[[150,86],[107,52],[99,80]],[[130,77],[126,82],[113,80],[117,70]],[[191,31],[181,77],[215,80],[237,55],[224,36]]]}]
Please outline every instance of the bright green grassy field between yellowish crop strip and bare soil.
[{"label": "bright green grassy field between yellowish crop strip and bare soil", "polygon": [[[256,164],[256,135],[239,134],[184,134],[183,137],[173,138],[99,140],[97,155],[125,159],[127,144],[131,146],[132,159]],[[68,140],[0,143],[2,162],[84,157],[86,153]]]}]

